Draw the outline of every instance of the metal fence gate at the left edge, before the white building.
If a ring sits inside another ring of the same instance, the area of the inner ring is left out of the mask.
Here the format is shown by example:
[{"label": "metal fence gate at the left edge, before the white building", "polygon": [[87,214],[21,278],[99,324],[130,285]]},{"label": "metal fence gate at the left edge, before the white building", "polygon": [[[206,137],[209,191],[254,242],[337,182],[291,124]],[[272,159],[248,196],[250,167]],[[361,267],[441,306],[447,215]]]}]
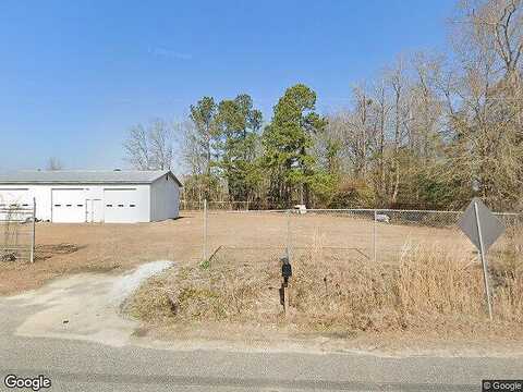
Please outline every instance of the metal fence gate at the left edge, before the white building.
[{"label": "metal fence gate at the left edge, before the white building", "polygon": [[0,206],[0,261],[35,260],[35,213],[33,206]]}]

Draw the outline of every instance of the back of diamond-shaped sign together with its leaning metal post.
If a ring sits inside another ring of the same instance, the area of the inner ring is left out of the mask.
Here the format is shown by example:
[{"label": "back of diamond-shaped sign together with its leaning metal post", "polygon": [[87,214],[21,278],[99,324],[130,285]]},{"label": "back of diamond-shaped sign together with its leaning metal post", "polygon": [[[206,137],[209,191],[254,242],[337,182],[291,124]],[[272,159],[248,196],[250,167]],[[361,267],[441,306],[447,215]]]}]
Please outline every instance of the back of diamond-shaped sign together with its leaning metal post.
[{"label": "back of diamond-shaped sign together with its leaning metal post", "polygon": [[492,319],[492,303],[490,285],[488,283],[487,252],[496,240],[503,233],[504,225],[483,204],[479,198],[474,198],[466,208],[460,221],[463,233],[479,250],[483,266],[483,280],[485,283],[485,297],[488,306],[488,317]]}]

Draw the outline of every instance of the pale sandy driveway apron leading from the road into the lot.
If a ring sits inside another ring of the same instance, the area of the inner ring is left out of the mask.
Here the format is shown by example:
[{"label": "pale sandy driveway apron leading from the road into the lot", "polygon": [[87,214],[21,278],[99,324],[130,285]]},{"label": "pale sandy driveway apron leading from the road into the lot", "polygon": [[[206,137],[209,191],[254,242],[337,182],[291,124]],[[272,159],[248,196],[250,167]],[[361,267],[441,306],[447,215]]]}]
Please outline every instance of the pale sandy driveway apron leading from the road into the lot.
[{"label": "pale sandy driveway apron leading from the road into the lot", "polygon": [[13,311],[17,307],[36,309],[16,328],[17,335],[121,346],[130,342],[138,324],[121,317],[120,306],[142,281],[172,266],[172,261],[156,261],[121,275],[75,274],[3,301]]}]

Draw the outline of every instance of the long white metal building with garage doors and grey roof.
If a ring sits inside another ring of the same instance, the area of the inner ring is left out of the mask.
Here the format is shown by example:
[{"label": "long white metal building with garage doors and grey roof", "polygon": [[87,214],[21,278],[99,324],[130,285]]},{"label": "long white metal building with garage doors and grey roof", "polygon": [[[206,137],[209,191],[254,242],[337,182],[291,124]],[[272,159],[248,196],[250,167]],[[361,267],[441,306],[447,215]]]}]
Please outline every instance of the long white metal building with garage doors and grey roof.
[{"label": "long white metal building with garage doors and grey roof", "polygon": [[45,221],[151,222],[178,218],[181,186],[169,170],[0,172],[0,208],[35,198]]}]

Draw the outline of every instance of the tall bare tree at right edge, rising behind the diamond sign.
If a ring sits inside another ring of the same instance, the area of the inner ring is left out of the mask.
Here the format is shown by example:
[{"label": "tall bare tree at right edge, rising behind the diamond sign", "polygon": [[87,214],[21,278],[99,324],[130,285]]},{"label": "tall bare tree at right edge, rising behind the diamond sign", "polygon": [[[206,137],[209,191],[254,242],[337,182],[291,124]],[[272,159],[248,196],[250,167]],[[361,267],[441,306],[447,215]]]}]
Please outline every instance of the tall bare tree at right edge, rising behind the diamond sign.
[{"label": "tall bare tree at right edge, rising behind the diamond sign", "polygon": [[458,22],[463,71],[450,159],[462,182],[510,208],[523,191],[523,2],[463,1]]}]

